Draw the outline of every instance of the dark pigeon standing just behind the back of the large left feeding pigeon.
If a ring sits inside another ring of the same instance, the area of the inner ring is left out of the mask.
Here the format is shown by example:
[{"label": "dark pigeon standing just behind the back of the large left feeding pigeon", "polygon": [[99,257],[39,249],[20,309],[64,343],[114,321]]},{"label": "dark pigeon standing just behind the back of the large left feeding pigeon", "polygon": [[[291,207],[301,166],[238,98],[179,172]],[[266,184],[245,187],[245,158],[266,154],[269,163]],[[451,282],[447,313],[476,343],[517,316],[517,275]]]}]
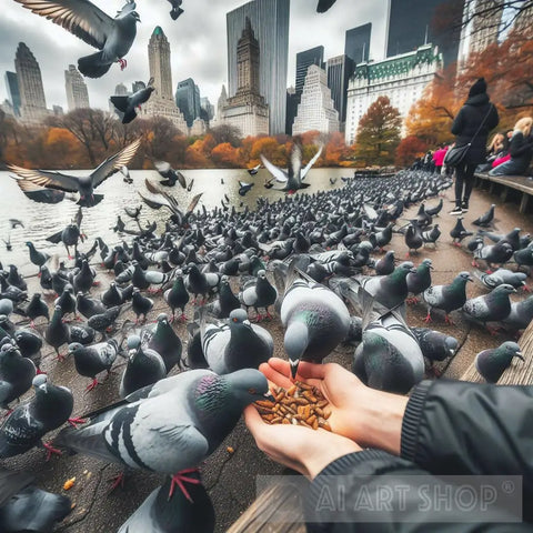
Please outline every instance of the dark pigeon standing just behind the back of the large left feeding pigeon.
[{"label": "dark pigeon standing just behind the back of the large left feeding pigeon", "polygon": [[120,382],[120,398],[162,380],[167,376],[163,359],[155,351],[141,344],[138,335],[128,339],[128,364]]}]

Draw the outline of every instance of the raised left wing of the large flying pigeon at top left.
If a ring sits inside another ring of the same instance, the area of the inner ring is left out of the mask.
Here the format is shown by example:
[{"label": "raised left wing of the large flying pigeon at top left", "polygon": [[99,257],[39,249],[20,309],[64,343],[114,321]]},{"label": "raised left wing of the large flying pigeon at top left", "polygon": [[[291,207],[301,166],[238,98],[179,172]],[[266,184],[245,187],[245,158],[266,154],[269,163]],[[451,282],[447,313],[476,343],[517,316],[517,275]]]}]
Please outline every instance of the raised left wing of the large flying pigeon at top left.
[{"label": "raised left wing of the large flying pigeon at top left", "polygon": [[91,47],[102,50],[114,20],[89,0],[16,0],[31,12],[63,27]]}]

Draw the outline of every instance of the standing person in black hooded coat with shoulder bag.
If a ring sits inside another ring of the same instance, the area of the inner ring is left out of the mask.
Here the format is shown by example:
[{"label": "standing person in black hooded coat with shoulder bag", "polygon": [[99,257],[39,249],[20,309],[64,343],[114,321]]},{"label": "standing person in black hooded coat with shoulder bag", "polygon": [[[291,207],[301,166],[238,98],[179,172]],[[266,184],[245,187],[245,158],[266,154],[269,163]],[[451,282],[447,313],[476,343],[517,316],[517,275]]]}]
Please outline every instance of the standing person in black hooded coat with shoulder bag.
[{"label": "standing person in black hooded coat with shoulder bag", "polygon": [[455,145],[462,147],[469,142],[472,145],[455,168],[455,209],[450,214],[461,214],[469,210],[475,168],[486,161],[486,139],[499,122],[497,110],[486,93],[486,82],[480,78],[470,88],[469,98],[452,124],[452,133],[456,137]]}]

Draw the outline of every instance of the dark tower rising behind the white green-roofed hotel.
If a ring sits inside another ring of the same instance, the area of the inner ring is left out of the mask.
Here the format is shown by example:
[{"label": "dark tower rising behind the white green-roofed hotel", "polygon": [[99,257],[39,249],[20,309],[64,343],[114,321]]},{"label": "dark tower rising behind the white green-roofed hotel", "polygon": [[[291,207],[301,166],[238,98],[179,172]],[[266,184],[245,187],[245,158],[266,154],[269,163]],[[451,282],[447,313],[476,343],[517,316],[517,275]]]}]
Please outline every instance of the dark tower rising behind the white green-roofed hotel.
[{"label": "dark tower rising behind the white green-roofed hotel", "polygon": [[444,67],[457,61],[465,0],[390,0],[386,57],[436,44]]}]

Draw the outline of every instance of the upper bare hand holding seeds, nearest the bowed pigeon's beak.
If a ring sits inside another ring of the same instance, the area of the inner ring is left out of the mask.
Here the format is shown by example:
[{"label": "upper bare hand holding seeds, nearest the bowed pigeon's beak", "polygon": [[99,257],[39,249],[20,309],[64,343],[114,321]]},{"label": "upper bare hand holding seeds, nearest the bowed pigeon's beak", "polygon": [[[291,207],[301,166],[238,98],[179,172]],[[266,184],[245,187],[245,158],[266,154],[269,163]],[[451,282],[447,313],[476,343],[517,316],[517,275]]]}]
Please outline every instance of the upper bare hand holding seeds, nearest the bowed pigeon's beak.
[{"label": "upper bare hand holding seeds, nearest the bowed pigeon's beak", "polygon": [[[289,389],[290,364],[272,358],[259,368],[266,379]],[[298,378],[316,386],[330,403],[328,422],[334,433],[358,445],[400,454],[402,421],[408,398],[376,391],[336,363],[301,362]]]}]

